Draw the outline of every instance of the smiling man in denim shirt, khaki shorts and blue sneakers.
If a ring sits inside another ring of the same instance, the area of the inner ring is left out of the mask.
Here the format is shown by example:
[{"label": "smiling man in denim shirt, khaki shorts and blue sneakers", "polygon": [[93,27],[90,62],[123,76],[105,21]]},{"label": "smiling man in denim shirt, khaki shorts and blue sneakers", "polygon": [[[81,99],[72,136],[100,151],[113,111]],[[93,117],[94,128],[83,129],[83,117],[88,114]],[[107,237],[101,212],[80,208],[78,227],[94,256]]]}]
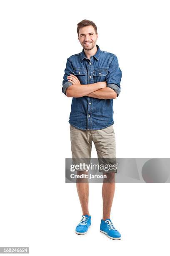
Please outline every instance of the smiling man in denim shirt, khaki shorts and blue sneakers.
[{"label": "smiling man in denim shirt, khaki shorts and blue sneakers", "polygon": [[[67,97],[73,97],[69,120],[72,158],[90,159],[93,141],[98,159],[115,159],[113,99],[120,93],[122,72],[117,57],[101,51],[96,45],[98,34],[95,23],[82,20],[77,24],[77,34],[83,50],[67,59],[62,82],[62,92]],[[115,172],[112,170],[106,175],[106,182],[102,185],[103,216],[100,231],[111,239],[119,240],[121,235],[110,220]],[[75,232],[84,235],[91,225],[88,182],[77,183],[77,192],[82,219]]]}]

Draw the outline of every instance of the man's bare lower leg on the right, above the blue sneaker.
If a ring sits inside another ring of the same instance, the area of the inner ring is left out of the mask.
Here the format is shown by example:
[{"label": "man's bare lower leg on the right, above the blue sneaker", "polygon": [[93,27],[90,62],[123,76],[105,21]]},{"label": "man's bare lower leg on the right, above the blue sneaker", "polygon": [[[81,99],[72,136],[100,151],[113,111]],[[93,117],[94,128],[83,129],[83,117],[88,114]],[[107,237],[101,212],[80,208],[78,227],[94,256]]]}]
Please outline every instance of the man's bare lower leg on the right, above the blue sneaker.
[{"label": "man's bare lower leg on the right, above the blue sneaker", "polygon": [[106,175],[107,178],[103,180],[102,185],[103,220],[110,219],[112,201],[115,193],[115,173],[107,173]]}]

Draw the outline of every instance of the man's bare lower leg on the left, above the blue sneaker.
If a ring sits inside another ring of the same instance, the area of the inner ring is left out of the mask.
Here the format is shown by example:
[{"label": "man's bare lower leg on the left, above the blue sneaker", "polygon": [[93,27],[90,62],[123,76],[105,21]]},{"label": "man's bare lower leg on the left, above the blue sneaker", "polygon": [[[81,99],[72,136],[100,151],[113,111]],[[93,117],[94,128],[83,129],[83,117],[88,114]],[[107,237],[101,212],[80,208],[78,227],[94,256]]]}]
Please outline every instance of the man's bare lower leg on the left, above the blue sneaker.
[{"label": "man's bare lower leg on the left, above the blue sneaker", "polygon": [[[77,175],[88,174],[86,171],[77,172]],[[88,179],[77,179],[77,193],[82,207],[82,215],[90,215],[88,210],[89,183]]]}]

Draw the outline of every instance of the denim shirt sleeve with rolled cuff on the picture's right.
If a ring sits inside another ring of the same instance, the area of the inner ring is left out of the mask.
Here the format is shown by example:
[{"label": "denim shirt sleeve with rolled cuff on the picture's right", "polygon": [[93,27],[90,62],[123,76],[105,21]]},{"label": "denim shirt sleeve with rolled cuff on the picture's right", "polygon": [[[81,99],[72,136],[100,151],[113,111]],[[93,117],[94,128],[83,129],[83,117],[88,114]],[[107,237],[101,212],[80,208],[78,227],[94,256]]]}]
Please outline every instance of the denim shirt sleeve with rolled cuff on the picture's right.
[{"label": "denim shirt sleeve with rolled cuff on the picture's right", "polygon": [[121,78],[122,78],[122,71],[120,70],[117,57],[114,55],[110,62],[108,74],[106,76],[106,82],[107,82],[107,87],[112,88],[117,93],[117,97],[120,94]]}]

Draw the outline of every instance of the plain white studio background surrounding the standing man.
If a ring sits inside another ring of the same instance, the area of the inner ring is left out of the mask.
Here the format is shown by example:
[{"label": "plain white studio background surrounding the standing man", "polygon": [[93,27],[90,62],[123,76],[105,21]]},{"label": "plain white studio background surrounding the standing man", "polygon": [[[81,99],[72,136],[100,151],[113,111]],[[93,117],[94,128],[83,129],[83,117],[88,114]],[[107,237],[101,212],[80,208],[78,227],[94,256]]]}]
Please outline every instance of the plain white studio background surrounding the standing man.
[{"label": "plain white studio background surrounding the standing man", "polygon": [[92,227],[75,234],[82,212],[75,184],[65,184],[71,98],[61,91],[67,58],[82,51],[77,23],[92,20],[97,44],[122,70],[117,157],[169,158],[168,16],[165,0],[0,1],[1,247],[29,246],[32,256],[169,255],[169,184],[116,184],[120,241],[100,233],[101,184],[90,184]]}]

